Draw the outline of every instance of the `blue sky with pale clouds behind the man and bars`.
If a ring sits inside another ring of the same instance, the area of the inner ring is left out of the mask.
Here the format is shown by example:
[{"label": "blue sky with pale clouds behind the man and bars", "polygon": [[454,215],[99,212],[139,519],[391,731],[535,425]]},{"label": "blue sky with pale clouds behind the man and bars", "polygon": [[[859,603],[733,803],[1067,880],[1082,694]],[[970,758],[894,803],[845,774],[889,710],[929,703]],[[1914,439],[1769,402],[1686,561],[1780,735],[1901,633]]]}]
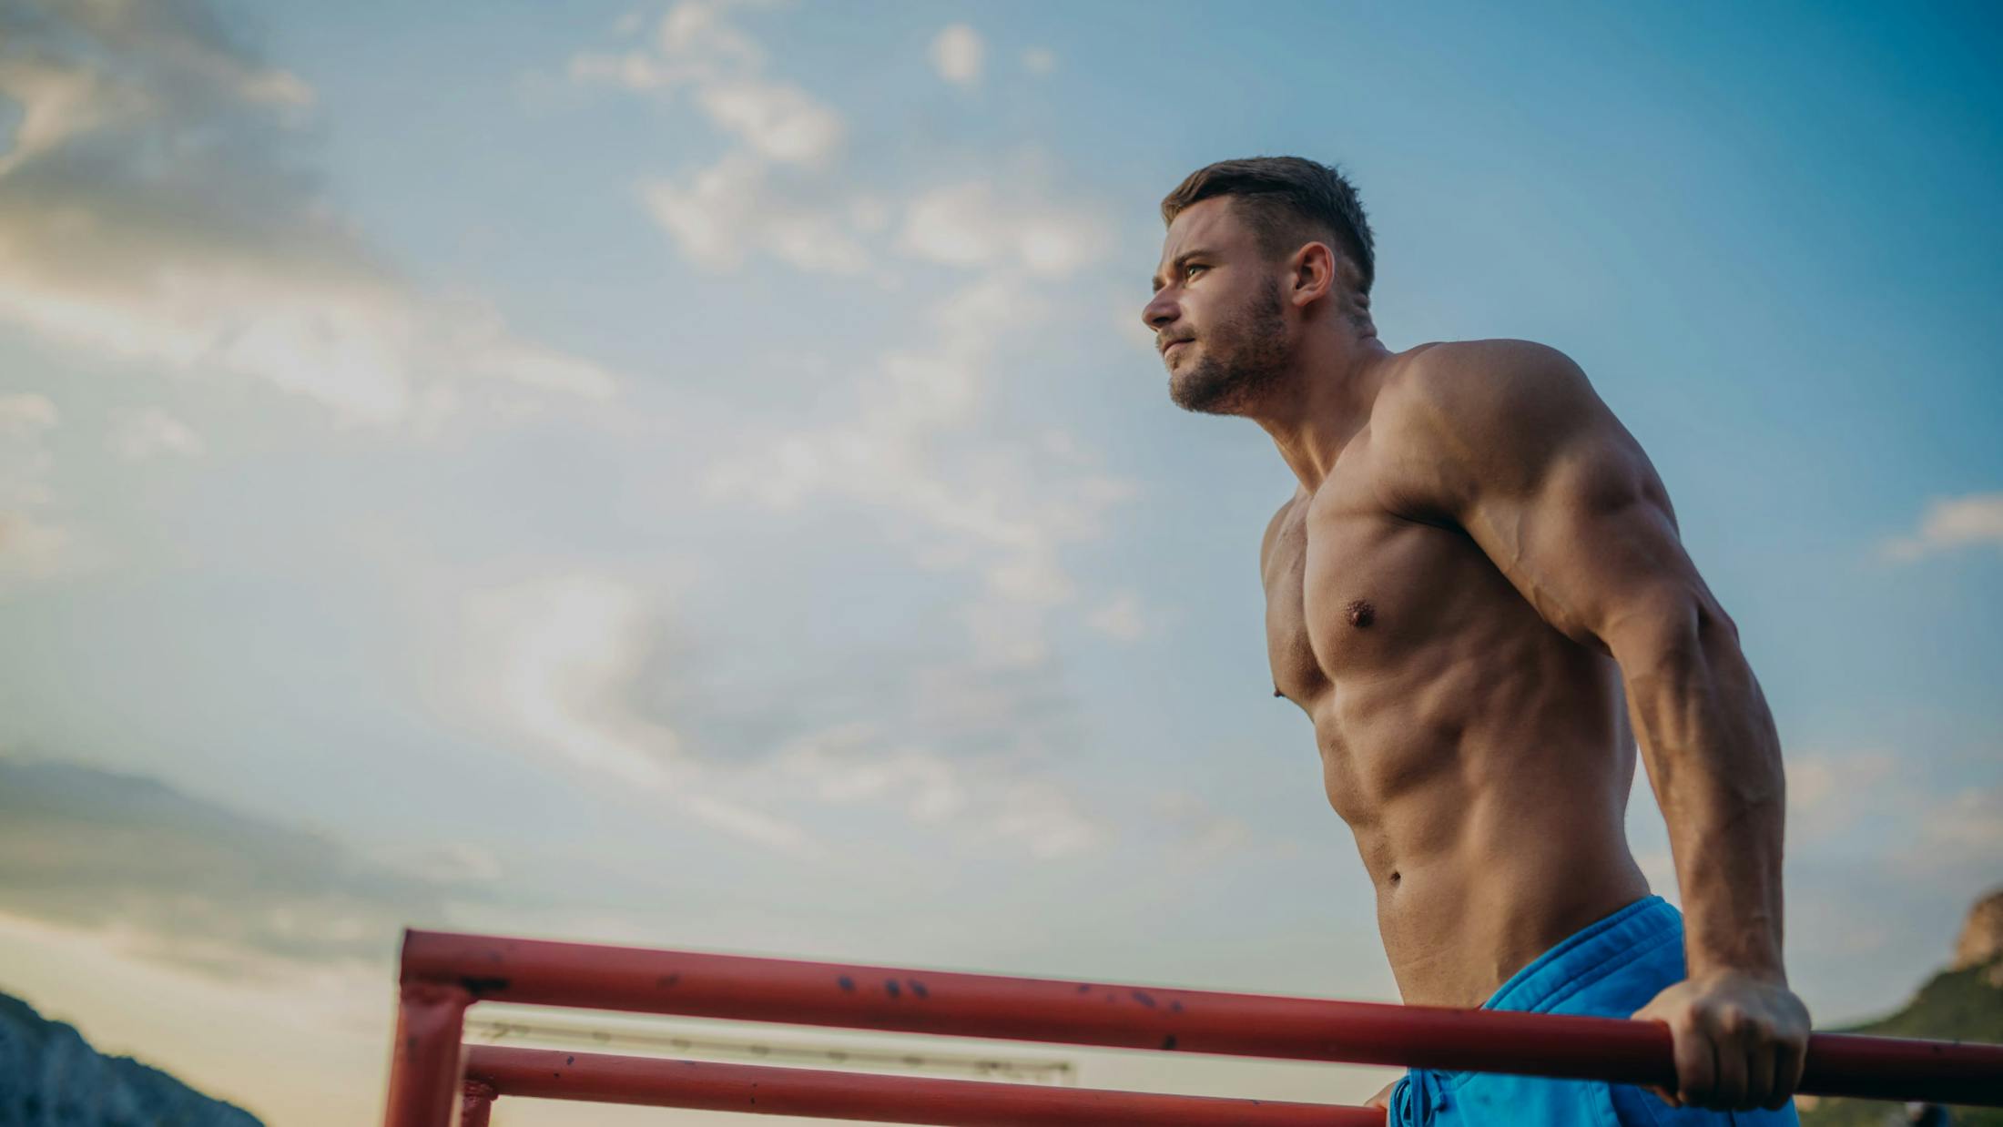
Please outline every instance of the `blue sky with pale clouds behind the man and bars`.
[{"label": "blue sky with pale clouds behind the man and bars", "polygon": [[[1298,154],[1392,348],[1556,346],[1648,450],[1781,731],[1793,985],[1897,1007],[2003,881],[1999,50],[1949,4],[0,0],[0,991],[286,1127],[379,1115],[407,925],[1396,999],[1272,697],[1294,480],[1140,322],[1162,194]],[[1644,787],[1630,839],[1675,899]]]}]

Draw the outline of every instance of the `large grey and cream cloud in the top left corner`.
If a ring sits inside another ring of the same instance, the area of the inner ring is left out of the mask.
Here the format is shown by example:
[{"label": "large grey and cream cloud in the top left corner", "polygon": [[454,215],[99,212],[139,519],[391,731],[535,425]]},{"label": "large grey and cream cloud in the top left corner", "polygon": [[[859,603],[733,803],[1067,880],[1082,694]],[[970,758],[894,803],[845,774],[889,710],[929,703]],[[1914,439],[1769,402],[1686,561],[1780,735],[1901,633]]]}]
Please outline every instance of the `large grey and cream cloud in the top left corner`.
[{"label": "large grey and cream cloud in the top left corner", "polygon": [[[605,398],[605,368],[405,284],[310,166],[314,96],[192,4],[48,4],[0,36],[0,322],[106,358],[264,380],[349,424],[455,384]],[[479,396],[481,400],[497,398]]]}]

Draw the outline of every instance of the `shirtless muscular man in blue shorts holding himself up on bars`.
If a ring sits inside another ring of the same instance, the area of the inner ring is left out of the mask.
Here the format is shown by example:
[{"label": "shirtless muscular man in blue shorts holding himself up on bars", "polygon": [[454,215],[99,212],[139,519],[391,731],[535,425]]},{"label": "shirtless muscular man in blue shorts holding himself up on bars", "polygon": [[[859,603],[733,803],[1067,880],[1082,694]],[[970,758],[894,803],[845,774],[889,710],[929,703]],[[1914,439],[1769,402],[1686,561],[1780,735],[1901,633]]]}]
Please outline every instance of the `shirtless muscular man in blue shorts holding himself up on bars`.
[{"label": "shirtless muscular man in blue shorts holding himself up on bars", "polygon": [[[1176,404],[1264,426],[1300,488],[1260,571],[1406,1003],[1668,1025],[1677,1087],[1410,1071],[1400,1123],[1795,1123],[1781,749],[1634,438],[1552,348],[1392,352],[1354,188],[1226,160],[1162,202],[1142,310]],[[1622,827],[1640,743],[1683,913]],[[1765,1109],[1751,1111],[1747,1109]]]}]

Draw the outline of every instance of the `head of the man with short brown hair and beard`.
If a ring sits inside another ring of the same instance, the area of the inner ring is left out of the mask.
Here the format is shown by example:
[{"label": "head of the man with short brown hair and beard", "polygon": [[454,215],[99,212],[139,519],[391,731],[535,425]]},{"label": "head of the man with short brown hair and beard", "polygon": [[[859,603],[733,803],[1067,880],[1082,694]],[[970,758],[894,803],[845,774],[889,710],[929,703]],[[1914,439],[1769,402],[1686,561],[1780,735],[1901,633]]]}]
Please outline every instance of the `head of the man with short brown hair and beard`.
[{"label": "head of the man with short brown hair and beard", "polygon": [[1162,200],[1168,238],[1142,320],[1180,406],[1238,414],[1314,326],[1370,336],[1370,220],[1340,172],[1298,156],[1220,160]]}]

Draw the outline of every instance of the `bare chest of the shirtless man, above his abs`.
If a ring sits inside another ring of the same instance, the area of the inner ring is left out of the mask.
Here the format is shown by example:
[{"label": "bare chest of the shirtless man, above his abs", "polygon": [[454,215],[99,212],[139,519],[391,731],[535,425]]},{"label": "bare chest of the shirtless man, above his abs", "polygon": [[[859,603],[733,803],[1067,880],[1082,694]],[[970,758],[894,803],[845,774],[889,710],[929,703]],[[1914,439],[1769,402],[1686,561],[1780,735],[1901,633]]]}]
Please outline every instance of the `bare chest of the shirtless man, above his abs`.
[{"label": "bare chest of the shirtless man, above his abs", "polygon": [[1324,482],[1282,518],[1266,560],[1274,689],[1306,701],[1408,669],[1464,619],[1482,571],[1486,556],[1458,528],[1388,512],[1368,482]]}]

